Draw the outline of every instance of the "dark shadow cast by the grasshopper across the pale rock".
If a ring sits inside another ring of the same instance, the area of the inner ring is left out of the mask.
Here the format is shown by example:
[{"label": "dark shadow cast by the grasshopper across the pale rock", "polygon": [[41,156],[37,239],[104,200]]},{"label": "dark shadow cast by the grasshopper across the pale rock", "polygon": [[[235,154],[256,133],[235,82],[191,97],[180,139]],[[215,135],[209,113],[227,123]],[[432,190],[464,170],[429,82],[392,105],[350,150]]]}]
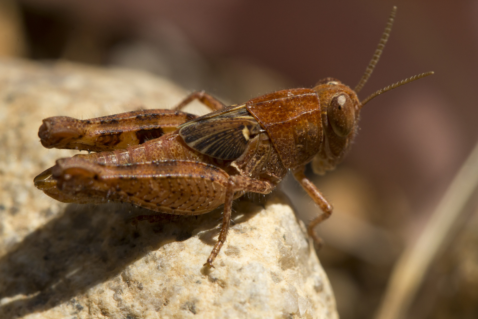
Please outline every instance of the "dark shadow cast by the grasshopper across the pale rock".
[{"label": "dark shadow cast by the grasshopper across the pale rock", "polygon": [[130,204],[69,205],[0,259],[0,299],[11,298],[3,300],[0,317],[18,318],[70,300],[148,252],[190,238],[195,229],[214,233],[222,210],[197,217],[164,214],[160,222],[131,226],[132,217],[153,213]]}]

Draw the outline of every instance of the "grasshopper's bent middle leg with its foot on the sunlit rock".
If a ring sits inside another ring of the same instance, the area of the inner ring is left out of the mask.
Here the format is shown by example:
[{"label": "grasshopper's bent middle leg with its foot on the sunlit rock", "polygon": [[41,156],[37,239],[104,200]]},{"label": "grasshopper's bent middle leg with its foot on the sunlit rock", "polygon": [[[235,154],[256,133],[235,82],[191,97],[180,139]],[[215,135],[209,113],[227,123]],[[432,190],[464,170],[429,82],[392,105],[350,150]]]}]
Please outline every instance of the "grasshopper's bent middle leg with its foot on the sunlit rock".
[{"label": "grasshopper's bent middle leg with its foot on the sunlit rock", "polygon": [[216,245],[209,255],[209,258],[207,258],[206,264],[204,264],[205,266],[214,268],[212,262],[216,258],[217,253],[219,253],[219,250],[224,242],[226,242],[226,237],[229,231],[229,223],[231,220],[232,200],[234,199],[234,194],[239,191],[268,194],[272,191],[272,189],[274,189],[274,187],[275,186],[271,182],[260,181],[246,176],[229,177],[226,200],[224,203],[224,214],[222,216],[221,231],[219,232]]}]

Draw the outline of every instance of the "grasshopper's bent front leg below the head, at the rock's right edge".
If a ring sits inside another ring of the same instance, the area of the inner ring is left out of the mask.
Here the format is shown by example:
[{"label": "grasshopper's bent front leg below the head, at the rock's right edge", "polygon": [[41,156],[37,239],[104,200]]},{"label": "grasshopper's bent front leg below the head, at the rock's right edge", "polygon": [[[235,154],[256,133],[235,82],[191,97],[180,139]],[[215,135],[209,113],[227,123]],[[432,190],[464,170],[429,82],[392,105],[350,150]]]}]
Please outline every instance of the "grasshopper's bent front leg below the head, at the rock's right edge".
[{"label": "grasshopper's bent front leg below the head, at the rock's right edge", "polygon": [[304,166],[298,167],[293,169],[293,175],[295,179],[299,182],[299,184],[304,188],[304,190],[309,194],[309,196],[314,200],[315,204],[317,204],[320,209],[322,210],[322,214],[315,217],[309,225],[307,226],[307,232],[309,236],[314,239],[314,242],[320,247],[322,244],[322,240],[317,233],[315,232],[314,228],[322,221],[326,220],[332,214],[332,205],[326,200],[324,195],[320,192],[320,190],[307,178],[304,174]]}]

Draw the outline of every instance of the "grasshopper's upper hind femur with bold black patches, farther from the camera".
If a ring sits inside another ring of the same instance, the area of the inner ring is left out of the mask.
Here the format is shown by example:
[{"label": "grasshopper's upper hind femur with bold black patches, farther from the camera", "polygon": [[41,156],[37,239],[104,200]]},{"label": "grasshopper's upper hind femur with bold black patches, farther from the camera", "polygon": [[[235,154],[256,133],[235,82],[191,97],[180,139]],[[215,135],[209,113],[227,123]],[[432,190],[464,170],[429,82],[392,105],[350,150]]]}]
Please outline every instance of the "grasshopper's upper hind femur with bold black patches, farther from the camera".
[{"label": "grasshopper's upper hind femur with bold black patches, farther from the camera", "polygon": [[112,151],[173,132],[194,118],[179,110],[140,110],[89,120],[55,116],[43,120],[38,136],[46,148]]}]

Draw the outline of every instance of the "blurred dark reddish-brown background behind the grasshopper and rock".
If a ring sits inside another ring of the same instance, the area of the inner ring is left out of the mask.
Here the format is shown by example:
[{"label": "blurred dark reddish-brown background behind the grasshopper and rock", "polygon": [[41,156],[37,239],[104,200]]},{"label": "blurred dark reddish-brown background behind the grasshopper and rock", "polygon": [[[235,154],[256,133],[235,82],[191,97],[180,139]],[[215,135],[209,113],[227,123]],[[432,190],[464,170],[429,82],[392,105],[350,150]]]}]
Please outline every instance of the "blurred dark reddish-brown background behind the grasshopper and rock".
[{"label": "blurred dark reddish-brown background behind the grasshopper and rock", "polygon": [[[0,54],[141,68],[240,103],[323,77],[353,88],[392,5],[391,37],[360,97],[435,75],[370,102],[345,163],[314,177],[336,209],[320,226],[319,258],[341,318],[371,318],[394,261],[477,141],[478,1],[1,0]],[[310,198],[292,178],[283,184],[300,217],[311,218]],[[408,318],[478,318],[469,206]]]}]

